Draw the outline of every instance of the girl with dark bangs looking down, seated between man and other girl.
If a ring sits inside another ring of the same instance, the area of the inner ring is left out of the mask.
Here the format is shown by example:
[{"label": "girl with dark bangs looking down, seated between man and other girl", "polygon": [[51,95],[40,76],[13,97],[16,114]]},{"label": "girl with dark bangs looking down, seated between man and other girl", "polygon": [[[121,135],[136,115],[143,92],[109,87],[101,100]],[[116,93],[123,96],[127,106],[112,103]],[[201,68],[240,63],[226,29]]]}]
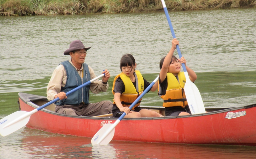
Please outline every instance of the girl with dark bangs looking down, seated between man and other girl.
[{"label": "girl with dark bangs looking down, seated between man and other girl", "polygon": [[[112,93],[114,94],[114,102],[112,113],[114,117],[120,117],[125,112],[125,118],[137,117],[160,117],[159,113],[143,109],[140,107],[141,100],[132,108],[129,107],[139,97],[139,95],[150,85],[140,71],[135,70],[137,64],[131,54],[125,54],[120,60],[120,69],[122,73],[114,79]],[[156,91],[156,82],[150,91]]]}]

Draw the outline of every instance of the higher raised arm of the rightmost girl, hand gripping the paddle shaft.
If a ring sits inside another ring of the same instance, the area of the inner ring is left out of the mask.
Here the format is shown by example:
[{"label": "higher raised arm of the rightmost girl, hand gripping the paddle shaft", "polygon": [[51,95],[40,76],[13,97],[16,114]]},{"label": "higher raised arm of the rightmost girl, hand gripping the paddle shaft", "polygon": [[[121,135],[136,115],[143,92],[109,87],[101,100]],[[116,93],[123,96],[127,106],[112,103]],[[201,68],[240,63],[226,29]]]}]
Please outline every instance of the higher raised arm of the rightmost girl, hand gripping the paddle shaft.
[{"label": "higher raised arm of the rightmost girl, hand gripping the paddle shaft", "polygon": [[162,66],[160,74],[159,74],[161,83],[164,81],[164,79],[167,76],[168,68],[169,68],[170,62],[172,60],[173,52],[175,51],[176,45],[178,45],[178,44],[179,44],[179,41],[176,38],[172,39],[172,48],[169,51],[169,53],[166,55],[166,57],[164,58],[163,66]]}]

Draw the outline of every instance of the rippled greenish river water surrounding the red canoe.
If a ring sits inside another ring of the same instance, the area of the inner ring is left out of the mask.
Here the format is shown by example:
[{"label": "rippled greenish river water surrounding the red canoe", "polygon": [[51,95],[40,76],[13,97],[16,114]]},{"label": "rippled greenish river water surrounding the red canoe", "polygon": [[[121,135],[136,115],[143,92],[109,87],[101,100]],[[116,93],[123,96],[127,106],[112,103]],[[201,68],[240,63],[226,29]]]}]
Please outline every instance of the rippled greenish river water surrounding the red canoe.
[{"label": "rippled greenish river water surrounding the red canoe", "polygon": [[[197,74],[206,107],[256,102],[256,9],[169,12],[180,50]],[[164,12],[64,16],[0,17],[0,118],[18,111],[18,92],[46,95],[63,52],[79,39],[92,47],[86,63],[96,75],[120,73],[119,60],[131,53],[137,69],[152,81],[172,35]],[[175,51],[175,55],[178,53]],[[90,102],[112,100],[91,94]],[[141,105],[161,106],[156,92]],[[200,135],[200,134],[198,134]],[[0,158],[255,158],[256,147],[182,145],[111,141],[92,147],[91,139],[22,128],[0,136]]]}]

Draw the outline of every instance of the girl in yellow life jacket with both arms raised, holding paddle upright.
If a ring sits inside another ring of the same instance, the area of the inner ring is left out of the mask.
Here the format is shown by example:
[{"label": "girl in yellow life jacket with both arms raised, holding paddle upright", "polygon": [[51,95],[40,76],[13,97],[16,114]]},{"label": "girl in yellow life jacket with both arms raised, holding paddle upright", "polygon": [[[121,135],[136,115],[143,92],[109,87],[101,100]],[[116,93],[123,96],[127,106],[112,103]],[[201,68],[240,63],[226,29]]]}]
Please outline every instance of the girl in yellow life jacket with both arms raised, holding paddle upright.
[{"label": "girl in yellow life jacket with both arms raised, holding paddle upright", "polygon": [[[179,41],[174,38],[172,40],[171,50],[160,60],[161,71],[158,80],[158,95],[164,99],[163,106],[165,107],[165,116],[191,114],[184,91],[186,78],[184,72],[180,72],[181,63],[184,63],[186,66],[187,61],[184,57],[181,57],[179,60],[173,56],[173,52],[178,44]],[[196,73],[188,66],[186,66],[186,69],[188,71],[190,81],[194,82],[197,78]]]}]

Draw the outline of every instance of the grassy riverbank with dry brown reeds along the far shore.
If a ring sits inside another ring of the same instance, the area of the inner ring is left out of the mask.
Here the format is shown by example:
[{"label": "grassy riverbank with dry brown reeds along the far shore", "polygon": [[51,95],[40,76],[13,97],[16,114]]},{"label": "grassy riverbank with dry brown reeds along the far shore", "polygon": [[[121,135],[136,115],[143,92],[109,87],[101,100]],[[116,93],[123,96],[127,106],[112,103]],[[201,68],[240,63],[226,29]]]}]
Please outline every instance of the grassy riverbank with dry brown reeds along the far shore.
[{"label": "grassy riverbank with dry brown reeds along the far shore", "polygon": [[[256,7],[256,0],[165,0],[171,11]],[[161,0],[0,0],[1,16],[156,12]]]}]

